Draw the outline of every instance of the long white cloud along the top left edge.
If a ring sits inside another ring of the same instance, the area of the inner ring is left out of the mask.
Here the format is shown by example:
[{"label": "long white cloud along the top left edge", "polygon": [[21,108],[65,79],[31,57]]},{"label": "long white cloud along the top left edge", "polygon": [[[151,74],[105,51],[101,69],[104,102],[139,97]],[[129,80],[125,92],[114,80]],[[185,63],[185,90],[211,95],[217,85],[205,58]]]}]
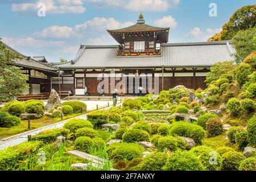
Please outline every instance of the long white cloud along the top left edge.
[{"label": "long white cloud along the top left edge", "polygon": [[86,11],[82,0],[38,0],[34,3],[14,3],[11,10],[18,13],[36,13],[39,10],[39,3],[45,4],[46,14],[80,14]]}]

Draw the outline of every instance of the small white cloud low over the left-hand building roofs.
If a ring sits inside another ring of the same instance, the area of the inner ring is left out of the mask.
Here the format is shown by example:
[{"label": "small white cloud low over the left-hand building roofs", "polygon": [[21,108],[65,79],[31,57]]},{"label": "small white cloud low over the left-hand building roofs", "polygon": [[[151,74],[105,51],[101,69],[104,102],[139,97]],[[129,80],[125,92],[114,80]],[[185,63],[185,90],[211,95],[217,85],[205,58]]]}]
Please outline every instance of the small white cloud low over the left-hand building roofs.
[{"label": "small white cloud low over the left-hand building roofs", "polygon": [[43,29],[41,32],[35,32],[33,34],[37,38],[81,38],[82,35],[78,34],[71,27],[67,26],[51,26]]}]

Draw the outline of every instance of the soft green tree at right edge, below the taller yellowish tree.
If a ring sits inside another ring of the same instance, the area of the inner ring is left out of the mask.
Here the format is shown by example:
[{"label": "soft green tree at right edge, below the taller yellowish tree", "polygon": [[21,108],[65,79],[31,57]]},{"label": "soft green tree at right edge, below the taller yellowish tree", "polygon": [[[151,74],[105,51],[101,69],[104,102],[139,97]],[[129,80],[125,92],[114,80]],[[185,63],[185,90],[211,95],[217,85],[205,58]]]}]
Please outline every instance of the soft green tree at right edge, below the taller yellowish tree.
[{"label": "soft green tree at right edge, below the taller yellowish tree", "polygon": [[256,27],[239,31],[233,38],[233,46],[237,51],[237,63],[241,63],[246,56],[256,51]]}]

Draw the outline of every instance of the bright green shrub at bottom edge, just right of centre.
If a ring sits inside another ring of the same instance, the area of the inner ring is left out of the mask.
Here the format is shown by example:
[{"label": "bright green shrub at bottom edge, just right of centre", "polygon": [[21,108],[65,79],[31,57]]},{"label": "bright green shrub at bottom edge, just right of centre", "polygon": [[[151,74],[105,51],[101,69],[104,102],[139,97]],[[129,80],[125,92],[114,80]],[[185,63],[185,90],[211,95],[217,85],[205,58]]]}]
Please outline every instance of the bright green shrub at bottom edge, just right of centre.
[{"label": "bright green shrub at bottom edge, just right of centre", "polygon": [[138,165],[137,170],[162,171],[167,159],[168,154],[166,152],[154,152],[153,154],[149,154],[142,159],[142,162]]}]

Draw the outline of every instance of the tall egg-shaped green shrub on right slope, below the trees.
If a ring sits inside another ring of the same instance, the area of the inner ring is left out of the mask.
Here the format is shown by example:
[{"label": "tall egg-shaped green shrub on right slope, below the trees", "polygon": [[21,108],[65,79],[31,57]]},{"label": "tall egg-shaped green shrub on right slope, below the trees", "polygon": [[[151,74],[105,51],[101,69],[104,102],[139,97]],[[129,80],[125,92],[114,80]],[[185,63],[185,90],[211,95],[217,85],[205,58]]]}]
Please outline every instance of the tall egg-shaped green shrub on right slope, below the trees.
[{"label": "tall egg-shaped green shrub on right slope, below the trees", "polygon": [[253,69],[250,64],[242,63],[238,65],[237,69],[235,69],[235,77],[237,78],[237,82],[240,86],[249,81],[249,75],[253,73]]}]

